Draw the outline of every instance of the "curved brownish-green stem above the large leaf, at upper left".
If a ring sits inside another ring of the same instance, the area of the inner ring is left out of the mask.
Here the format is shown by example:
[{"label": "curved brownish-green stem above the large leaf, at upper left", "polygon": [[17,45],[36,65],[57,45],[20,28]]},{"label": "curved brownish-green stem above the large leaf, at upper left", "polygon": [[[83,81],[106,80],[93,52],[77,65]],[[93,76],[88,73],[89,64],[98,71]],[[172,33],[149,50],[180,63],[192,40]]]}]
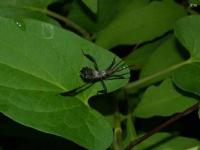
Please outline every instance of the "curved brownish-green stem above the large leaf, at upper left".
[{"label": "curved brownish-green stem above the large leaf, at upper left", "polygon": [[57,13],[47,10],[47,9],[41,9],[41,8],[36,8],[36,7],[23,6],[21,8],[41,12],[41,13],[49,15],[55,19],[58,19],[58,20],[64,22],[68,27],[71,27],[71,28],[75,29],[76,31],[78,31],[79,33],[81,33],[84,38],[86,38],[88,40],[90,39],[90,34],[85,29],[83,29],[78,24],[74,23],[73,21],[69,20],[68,18],[66,18],[60,14],[57,14]]}]

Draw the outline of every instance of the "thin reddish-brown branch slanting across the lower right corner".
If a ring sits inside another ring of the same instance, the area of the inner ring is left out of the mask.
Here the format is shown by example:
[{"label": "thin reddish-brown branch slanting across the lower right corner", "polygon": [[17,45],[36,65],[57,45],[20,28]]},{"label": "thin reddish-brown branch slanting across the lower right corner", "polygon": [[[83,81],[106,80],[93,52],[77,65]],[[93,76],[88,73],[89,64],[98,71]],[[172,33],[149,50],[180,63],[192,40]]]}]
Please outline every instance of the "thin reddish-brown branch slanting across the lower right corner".
[{"label": "thin reddish-brown branch slanting across the lower right corner", "polygon": [[174,123],[175,121],[183,118],[184,116],[189,115],[190,113],[196,111],[199,108],[200,108],[200,102],[198,102],[195,105],[191,106],[190,108],[186,109],[182,113],[179,113],[179,114],[173,116],[172,118],[170,118],[169,120],[167,120],[166,122],[161,124],[160,126],[158,126],[158,127],[154,128],[153,130],[147,132],[146,134],[144,134],[143,136],[139,137],[138,139],[130,142],[130,144],[125,148],[125,150],[131,150],[133,147],[135,147],[136,145],[140,144],[141,142],[143,142],[147,138],[151,137],[156,132],[162,130],[163,128],[165,128],[165,127],[167,127],[169,125],[171,125],[172,123]]}]

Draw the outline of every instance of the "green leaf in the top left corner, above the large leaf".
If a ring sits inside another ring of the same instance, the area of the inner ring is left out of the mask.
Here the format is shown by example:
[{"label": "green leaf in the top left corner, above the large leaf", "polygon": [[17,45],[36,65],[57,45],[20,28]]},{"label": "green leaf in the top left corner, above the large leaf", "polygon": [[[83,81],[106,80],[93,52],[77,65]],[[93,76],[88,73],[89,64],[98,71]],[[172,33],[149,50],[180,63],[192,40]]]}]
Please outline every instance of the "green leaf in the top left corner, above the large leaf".
[{"label": "green leaf in the top left corner, above the large leaf", "polygon": [[0,2],[0,16],[9,18],[33,18],[58,25],[44,13],[47,6],[56,0],[3,0]]}]

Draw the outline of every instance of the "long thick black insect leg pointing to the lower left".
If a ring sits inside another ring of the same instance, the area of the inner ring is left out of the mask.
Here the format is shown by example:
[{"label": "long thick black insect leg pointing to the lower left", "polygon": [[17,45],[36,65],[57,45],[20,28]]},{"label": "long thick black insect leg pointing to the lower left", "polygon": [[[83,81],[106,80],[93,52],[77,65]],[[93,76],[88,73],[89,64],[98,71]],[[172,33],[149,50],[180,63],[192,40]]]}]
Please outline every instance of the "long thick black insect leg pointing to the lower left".
[{"label": "long thick black insect leg pointing to the lower left", "polygon": [[91,87],[93,84],[94,83],[85,83],[78,88],[72,89],[72,90],[67,91],[67,92],[62,92],[62,93],[60,93],[60,95],[62,95],[62,96],[75,96],[75,95],[85,91],[86,89]]}]

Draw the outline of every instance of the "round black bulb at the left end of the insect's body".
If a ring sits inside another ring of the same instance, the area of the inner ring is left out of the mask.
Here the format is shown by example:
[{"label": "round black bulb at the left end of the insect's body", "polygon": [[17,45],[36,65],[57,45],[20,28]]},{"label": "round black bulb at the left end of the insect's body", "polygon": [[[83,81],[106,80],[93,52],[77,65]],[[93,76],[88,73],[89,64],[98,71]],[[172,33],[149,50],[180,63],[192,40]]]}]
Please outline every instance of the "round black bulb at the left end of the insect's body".
[{"label": "round black bulb at the left end of the insect's body", "polygon": [[93,78],[93,69],[89,67],[83,67],[80,71],[82,80],[89,81]]}]

